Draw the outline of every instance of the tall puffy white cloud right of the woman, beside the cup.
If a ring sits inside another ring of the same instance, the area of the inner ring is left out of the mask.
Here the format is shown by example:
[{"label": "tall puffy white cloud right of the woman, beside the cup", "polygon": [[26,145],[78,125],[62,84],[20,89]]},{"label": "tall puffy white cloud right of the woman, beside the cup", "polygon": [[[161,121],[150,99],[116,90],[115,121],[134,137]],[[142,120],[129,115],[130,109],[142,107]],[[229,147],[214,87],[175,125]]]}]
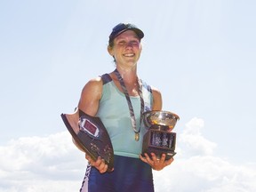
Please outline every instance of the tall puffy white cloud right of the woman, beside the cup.
[{"label": "tall puffy white cloud right of the woman, beside the cup", "polygon": [[157,191],[252,192],[256,190],[256,164],[231,164],[214,156],[217,144],[206,140],[204,120],[191,119],[178,137],[178,157],[161,172],[154,172]]}]

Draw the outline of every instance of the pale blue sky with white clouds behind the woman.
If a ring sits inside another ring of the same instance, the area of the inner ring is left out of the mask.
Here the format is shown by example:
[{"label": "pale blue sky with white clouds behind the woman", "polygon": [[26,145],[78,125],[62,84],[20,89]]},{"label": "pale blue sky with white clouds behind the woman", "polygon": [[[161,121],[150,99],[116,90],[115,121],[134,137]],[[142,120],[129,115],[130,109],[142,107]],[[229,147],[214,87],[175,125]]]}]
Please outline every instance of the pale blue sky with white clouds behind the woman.
[{"label": "pale blue sky with white clouds behind the woman", "polygon": [[60,114],[115,69],[120,22],[145,34],[138,74],[180,116],[156,192],[256,191],[255,1],[0,2],[0,191],[78,191],[86,167]]}]

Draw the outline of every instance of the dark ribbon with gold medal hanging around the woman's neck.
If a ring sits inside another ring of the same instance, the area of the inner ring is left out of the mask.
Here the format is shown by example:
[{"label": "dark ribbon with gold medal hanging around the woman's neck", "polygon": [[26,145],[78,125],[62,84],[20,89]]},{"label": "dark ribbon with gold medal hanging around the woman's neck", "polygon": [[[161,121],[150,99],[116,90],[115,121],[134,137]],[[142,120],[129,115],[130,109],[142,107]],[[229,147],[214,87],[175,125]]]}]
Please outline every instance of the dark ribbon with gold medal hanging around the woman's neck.
[{"label": "dark ribbon with gold medal hanging around the woman's neck", "polygon": [[[127,88],[124,84],[124,79],[122,78],[122,76],[120,75],[120,73],[118,72],[117,69],[115,69],[114,72],[116,74],[116,77],[117,77],[119,83],[121,84],[121,87],[123,89],[125,98],[127,100],[127,104],[128,104],[129,111],[130,111],[130,116],[131,116],[132,129],[133,129],[133,132],[135,132],[135,140],[138,141],[138,140],[140,140],[140,128],[137,131],[137,129],[136,129],[136,118],[135,118],[135,115],[134,115],[134,110],[132,108],[132,101],[130,99]],[[142,114],[143,114],[143,111],[144,111],[144,100],[143,100],[143,96],[142,96],[142,84],[141,84],[141,80],[139,81],[139,79],[138,79],[138,84],[139,84],[139,95],[140,95],[140,124],[141,124],[142,118],[143,118]]]}]

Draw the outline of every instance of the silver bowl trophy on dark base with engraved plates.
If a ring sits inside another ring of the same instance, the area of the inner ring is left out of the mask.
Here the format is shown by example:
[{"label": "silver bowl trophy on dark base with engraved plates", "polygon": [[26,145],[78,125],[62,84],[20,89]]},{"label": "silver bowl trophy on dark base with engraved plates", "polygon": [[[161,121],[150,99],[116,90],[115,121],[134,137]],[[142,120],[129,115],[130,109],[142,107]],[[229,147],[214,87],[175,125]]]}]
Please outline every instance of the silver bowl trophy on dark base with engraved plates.
[{"label": "silver bowl trophy on dark base with engraved plates", "polygon": [[166,154],[168,160],[175,156],[176,132],[172,132],[176,122],[180,119],[169,111],[153,110],[143,114],[143,122],[148,132],[143,137],[142,156],[147,153],[155,153],[156,158]]}]

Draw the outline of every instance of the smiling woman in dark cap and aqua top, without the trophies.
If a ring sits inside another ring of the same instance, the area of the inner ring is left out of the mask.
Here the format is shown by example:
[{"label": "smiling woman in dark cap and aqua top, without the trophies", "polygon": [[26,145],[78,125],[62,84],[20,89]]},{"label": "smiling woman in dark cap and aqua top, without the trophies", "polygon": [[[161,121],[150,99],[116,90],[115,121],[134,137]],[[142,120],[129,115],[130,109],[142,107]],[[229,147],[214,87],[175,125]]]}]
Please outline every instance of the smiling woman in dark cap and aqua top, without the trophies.
[{"label": "smiling woman in dark cap and aqua top, without the trophies", "polygon": [[99,116],[111,139],[115,164],[112,172],[100,157],[89,164],[80,191],[154,191],[152,169],[162,170],[173,158],[160,159],[155,154],[141,156],[146,129],[142,113],[161,110],[162,97],[156,88],[142,82],[137,75],[143,32],[132,24],[120,23],[113,28],[108,53],[116,62],[115,71],[85,84],[78,108],[90,116]]}]

